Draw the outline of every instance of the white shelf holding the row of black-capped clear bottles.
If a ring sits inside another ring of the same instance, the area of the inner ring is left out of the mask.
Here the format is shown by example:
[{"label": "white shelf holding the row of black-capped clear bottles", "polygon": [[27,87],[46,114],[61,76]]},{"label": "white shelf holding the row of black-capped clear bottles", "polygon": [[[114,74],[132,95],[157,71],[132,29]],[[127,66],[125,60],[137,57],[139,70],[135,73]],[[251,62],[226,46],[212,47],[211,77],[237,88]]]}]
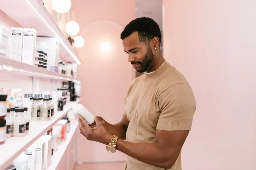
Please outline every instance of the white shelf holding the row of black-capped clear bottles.
[{"label": "white shelf holding the row of black-capped clear bottles", "polygon": [[[80,99],[77,100],[79,102]],[[10,137],[5,140],[5,143],[0,145],[0,169],[5,169],[12,163],[12,161],[31,144],[33,144],[39,137],[41,137],[47,130],[53,127],[57,121],[62,119],[74,102],[67,103],[63,111],[58,111],[54,114],[52,120],[48,121],[30,121],[29,134],[24,137]]]}]

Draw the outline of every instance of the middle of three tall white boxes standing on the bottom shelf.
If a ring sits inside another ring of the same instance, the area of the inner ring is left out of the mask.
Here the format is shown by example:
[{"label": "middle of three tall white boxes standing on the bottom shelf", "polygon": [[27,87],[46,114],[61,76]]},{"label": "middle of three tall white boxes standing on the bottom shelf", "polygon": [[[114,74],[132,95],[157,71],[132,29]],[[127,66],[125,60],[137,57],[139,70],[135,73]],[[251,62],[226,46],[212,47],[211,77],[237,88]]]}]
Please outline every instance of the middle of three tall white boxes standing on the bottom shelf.
[{"label": "middle of three tall white boxes standing on the bottom shelf", "polygon": [[35,170],[42,170],[44,169],[44,141],[37,140],[31,146],[36,148],[35,151]]}]

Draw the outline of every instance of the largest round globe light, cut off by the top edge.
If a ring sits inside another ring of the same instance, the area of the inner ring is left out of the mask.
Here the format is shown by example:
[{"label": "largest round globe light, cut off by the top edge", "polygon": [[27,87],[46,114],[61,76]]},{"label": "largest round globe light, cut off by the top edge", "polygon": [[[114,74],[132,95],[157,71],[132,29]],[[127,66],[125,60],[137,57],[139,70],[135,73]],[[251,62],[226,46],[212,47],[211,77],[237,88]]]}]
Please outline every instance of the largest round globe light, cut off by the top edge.
[{"label": "largest round globe light, cut off by the top edge", "polygon": [[71,8],[71,0],[53,0],[54,11],[64,14]]}]

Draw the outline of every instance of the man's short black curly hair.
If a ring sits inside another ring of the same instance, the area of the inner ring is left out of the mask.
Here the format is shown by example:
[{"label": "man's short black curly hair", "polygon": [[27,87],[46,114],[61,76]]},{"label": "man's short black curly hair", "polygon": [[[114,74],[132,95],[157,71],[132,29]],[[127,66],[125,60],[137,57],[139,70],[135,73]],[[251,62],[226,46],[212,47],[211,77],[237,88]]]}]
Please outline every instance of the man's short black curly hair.
[{"label": "man's short black curly hair", "polygon": [[122,31],[120,38],[123,40],[136,32],[139,35],[139,41],[145,43],[149,43],[154,37],[158,37],[160,46],[162,38],[161,31],[159,25],[153,19],[141,17],[132,20]]}]

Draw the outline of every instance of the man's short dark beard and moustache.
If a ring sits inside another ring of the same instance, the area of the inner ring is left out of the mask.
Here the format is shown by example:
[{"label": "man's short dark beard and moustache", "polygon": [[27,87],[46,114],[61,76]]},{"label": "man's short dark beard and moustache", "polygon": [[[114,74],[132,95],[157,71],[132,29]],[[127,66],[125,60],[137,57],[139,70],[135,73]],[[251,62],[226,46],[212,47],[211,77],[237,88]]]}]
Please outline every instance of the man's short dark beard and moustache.
[{"label": "man's short dark beard and moustache", "polygon": [[152,52],[152,49],[148,47],[148,53],[144,56],[144,59],[141,62],[131,62],[131,64],[139,64],[139,68],[136,68],[136,72],[143,73],[148,70],[148,68],[151,66],[152,62],[154,61],[155,56]]}]

